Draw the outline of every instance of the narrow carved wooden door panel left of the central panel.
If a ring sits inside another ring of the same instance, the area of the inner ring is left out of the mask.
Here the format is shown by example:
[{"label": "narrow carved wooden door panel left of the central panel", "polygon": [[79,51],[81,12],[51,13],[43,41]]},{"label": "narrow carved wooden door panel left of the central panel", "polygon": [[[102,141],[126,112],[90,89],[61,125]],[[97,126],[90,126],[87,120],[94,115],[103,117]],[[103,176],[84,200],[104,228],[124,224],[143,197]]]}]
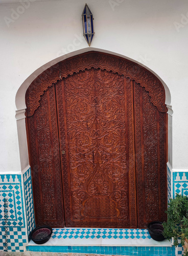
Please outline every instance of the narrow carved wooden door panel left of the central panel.
[{"label": "narrow carved wooden door panel left of the central panel", "polygon": [[38,226],[64,226],[61,164],[54,86],[46,91],[35,114],[27,118],[30,163]]}]

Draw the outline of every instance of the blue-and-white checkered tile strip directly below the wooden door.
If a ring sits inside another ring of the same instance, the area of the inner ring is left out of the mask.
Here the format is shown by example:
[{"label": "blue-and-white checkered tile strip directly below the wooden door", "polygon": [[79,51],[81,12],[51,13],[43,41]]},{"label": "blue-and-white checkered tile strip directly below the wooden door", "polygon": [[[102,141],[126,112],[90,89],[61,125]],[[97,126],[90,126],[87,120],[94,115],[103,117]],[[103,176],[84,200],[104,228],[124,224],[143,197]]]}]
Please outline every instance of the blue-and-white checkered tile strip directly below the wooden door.
[{"label": "blue-and-white checkered tile strip directly below the wooden door", "polygon": [[147,229],[54,228],[52,238],[69,239],[151,239]]}]

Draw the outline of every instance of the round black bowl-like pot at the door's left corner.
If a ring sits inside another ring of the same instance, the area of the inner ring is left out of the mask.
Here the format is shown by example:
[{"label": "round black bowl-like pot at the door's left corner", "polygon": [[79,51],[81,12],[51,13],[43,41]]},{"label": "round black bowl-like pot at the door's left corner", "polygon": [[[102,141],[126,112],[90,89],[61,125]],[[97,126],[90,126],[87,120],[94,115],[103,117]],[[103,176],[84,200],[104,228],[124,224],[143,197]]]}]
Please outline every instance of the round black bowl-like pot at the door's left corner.
[{"label": "round black bowl-like pot at the door's left corner", "polygon": [[40,226],[30,233],[30,238],[35,244],[44,244],[49,241],[52,235],[52,228],[49,226]]}]

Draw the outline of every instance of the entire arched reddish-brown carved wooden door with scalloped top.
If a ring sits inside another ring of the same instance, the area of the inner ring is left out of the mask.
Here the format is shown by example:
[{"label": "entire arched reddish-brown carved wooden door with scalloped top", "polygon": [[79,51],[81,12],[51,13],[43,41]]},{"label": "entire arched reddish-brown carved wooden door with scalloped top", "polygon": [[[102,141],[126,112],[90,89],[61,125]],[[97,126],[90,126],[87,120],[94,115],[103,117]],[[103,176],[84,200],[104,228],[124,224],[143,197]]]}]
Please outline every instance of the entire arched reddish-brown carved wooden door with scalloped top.
[{"label": "entire arched reddish-brown carved wooden door with scalloped top", "polygon": [[167,108],[153,74],[87,52],[38,76],[26,104],[38,225],[142,228],[165,220]]}]

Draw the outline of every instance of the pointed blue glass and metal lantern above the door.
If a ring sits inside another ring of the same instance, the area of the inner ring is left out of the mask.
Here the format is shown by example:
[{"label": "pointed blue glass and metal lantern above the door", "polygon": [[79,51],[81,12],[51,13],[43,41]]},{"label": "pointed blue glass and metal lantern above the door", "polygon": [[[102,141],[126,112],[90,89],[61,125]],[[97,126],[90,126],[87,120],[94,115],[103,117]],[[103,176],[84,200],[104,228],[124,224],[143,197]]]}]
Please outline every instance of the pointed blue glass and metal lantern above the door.
[{"label": "pointed blue glass and metal lantern above the door", "polygon": [[94,35],[94,30],[93,30],[92,13],[89,10],[89,7],[87,6],[87,4],[85,4],[84,10],[82,12],[82,24],[83,24],[83,35],[87,41],[87,44],[90,46],[93,35]]}]

